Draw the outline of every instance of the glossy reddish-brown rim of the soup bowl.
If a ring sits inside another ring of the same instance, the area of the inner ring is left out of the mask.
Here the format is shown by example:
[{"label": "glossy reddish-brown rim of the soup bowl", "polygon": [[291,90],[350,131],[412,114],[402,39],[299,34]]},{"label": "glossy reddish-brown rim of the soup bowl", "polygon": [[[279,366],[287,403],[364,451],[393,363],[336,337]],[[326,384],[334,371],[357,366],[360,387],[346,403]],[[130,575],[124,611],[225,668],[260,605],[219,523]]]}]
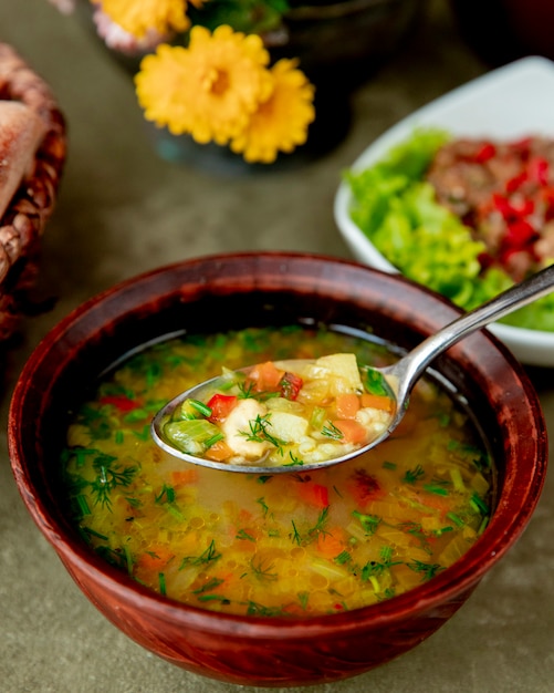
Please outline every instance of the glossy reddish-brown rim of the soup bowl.
[{"label": "glossy reddish-brown rim of the soup bowl", "polygon": [[[351,631],[384,627],[387,623],[391,624],[395,621],[401,621],[406,618],[407,611],[410,612],[410,617],[415,617],[422,611],[429,610],[433,606],[438,607],[449,599],[454,599],[457,596],[470,591],[477,586],[484,573],[490,570],[492,565],[509,550],[529,523],[542,492],[547,465],[546,426],[539,396],[523,370],[523,366],[494,335],[485,330],[482,331],[481,339],[487,340],[489,345],[498,352],[499,356],[506,362],[506,365],[510,366],[511,371],[519,377],[525,397],[529,400],[530,406],[534,410],[536,416],[534,424],[540,430],[540,435],[537,435],[534,441],[536,453],[533,465],[527,469],[529,483],[526,487],[519,488],[520,510],[518,513],[508,511],[505,500],[503,501],[501,496],[489,527],[480,539],[464,554],[462,559],[435,576],[432,580],[412,588],[404,594],[352,611],[307,618],[242,617],[219,611],[203,610],[174,601],[167,597],[161,597],[155,591],[140,586],[125,572],[117,570],[91,551],[84,542],[77,540],[79,537],[76,532],[69,531],[69,527],[61,521],[60,517],[50,516],[48,504],[44,498],[36,493],[36,488],[29,479],[29,461],[25,459],[25,454],[22,449],[18,425],[27,399],[36,394],[36,391],[31,391],[27,383],[32,383],[34,374],[40,372],[43,354],[48,353],[62,335],[67,334],[72,329],[79,329],[79,323],[82,318],[86,318],[91,311],[103,309],[106,302],[114,303],[115,299],[119,297],[122,292],[134,292],[145,282],[148,283],[153,279],[163,278],[166,273],[170,275],[174,271],[189,268],[198,262],[219,263],[223,260],[232,263],[240,262],[244,259],[250,259],[252,262],[255,262],[260,258],[291,262],[297,259],[301,261],[310,259],[330,267],[335,265],[341,265],[346,268],[349,267],[356,269],[356,271],[362,271],[366,276],[377,275],[385,283],[387,283],[387,281],[400,281],[403,285],[411,286],[419,293],[427,294],[429,301],[435,302],[437,306],[442,304],[442,307],[452,314],[452,319],[460,313],[459,309],[453,307],[443,297],[433,293],[420,285],[415,285],[399,275],[391,276],[386,272],[380,272],[379,270],[352,260],[304,252],[266,251],[260,254],[247,251],[202,256],[200,258],[191,258],[149,270],[106,289],[75,308],[43,338],[23,366],[13,390],[8,422],[10,461],[22,499],[39,529],[58,551],[62,562],[74,579],[73,568],[75,566],[81,569],[86,568],[86,571],[92,575],[97,582],[107,588],[111,593],[117,594],[125,602],[130,603],[138,596],[142,600],[140,609],[143,611],[156,614],[157,618],[168,619],[176,624],[180,623],[182,625],[186,620],[187,627],[218,634],[233,632],[247,638],[255,637],[266,638],[269,640],[294,637],[306,639],[327,632],[330,634],[336,633],[337,631],[344,634]],[[512,493],[512,495],[514,495],[514,493]],[[299,629],[302,629],[302,633],[299,633]]]}]

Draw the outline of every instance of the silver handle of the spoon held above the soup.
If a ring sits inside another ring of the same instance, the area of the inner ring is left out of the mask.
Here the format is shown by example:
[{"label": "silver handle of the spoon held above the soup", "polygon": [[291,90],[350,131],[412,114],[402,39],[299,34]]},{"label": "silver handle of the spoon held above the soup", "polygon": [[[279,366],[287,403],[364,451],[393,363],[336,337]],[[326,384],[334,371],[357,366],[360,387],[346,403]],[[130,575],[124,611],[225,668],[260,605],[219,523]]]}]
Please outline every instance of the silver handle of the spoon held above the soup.
[{"label": "silver handle of the spoon held above the soup", "polygon": [[510,287],[474,310],[460,316],[441,330],[431,334],[409,354],[390,366],[389,372],[399,379],[398,400],[406,396],[427,365],[440,353],[480,328],[508,316],[514,310],[554,291],[554,265],[536,272],[529,279]]}]

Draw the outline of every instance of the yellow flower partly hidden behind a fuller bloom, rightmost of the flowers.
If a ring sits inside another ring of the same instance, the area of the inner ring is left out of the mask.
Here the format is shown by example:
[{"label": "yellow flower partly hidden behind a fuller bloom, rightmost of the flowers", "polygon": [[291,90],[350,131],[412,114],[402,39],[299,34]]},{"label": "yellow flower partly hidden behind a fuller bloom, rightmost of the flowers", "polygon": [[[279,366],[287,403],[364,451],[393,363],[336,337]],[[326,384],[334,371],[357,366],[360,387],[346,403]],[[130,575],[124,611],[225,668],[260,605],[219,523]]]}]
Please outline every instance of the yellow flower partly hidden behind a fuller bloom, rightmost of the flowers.
[{"label": "yellow flower partly hidden behind a fuller bloom, rightmost of the flowers", "polygon": [[231,142],[232,151],[242,153],[249,163],[271,164],[278,152],[292,152],[306,141],[307,127],[315,118],[315,90],[296,64],[288,59],[275,63],[271,96]]}]

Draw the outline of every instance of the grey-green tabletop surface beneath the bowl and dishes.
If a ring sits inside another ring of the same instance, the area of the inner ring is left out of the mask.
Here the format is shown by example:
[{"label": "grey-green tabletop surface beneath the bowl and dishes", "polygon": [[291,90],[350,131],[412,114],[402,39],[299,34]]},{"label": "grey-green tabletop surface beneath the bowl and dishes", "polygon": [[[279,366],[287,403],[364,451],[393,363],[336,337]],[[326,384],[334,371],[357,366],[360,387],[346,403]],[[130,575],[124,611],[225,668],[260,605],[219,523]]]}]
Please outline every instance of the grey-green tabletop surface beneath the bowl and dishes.
[{"label": "grey-green tabletop surface beneath the bowl and dishes", "polygon": [[[192,256],[242,249],[349,257],[333,220],[341,172],[376,136],[489,68],[460,40],[446,0],[353,97],[347,137],[304,168],[215,177],[168,164],[145,136],[130,80],[76,21],[46,0],[0,0],[0,41],[52,85],[70,156],[44,237],[41,291],[55,308],[25,320],[6,364],[1,417],[25,359],[73,307],[113,283]],[[554,430],[552,371],[532,371]],[[0,436],[0,691],[233,693],[128,640],[85,599],[42,538],[12,479]],[[523,537],[432,638],[364,675],[292,691],[546,693],[554,691],[554,479]],[[255,689],[250,689],[255,690]],[[275,690],[275,689],[274,689]],[[283,689],[284,691],[285,689]]]}]

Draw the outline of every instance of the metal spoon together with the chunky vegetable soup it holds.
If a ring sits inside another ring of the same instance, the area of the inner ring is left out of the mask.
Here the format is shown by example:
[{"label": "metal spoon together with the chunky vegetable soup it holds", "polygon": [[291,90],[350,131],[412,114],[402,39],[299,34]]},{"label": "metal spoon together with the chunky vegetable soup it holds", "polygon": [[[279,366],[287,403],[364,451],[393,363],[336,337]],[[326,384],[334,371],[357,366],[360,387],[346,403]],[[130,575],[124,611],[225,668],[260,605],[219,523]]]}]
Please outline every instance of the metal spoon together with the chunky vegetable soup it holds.
[{"label": "metal spoon together with the chunky vegetable soup it holds", "polygon": [[230,472],[275,474],[345,462],[393,433],[437,355],[553,290],[551,266],[381,369],[358,364],[351,353],[223,369],[168,402],[154,417],[151,435],[176,457]]}]

